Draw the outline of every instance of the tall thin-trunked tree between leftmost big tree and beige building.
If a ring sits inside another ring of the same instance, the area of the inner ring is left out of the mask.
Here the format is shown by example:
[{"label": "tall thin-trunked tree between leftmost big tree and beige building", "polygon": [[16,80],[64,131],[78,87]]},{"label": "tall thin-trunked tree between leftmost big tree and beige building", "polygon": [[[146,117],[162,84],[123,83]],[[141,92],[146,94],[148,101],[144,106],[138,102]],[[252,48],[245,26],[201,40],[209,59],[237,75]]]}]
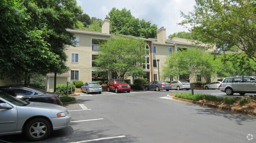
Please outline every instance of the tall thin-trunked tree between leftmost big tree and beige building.
[{"label": "tall thin-trunked tree between leftmost big tree and beige building", "polygon": [[[74,36],[66,31],[72,29],[76,24],[77,17],[82,14],[81,7],[76,5],[76,0],[24,0],[26,13],[32,20],[28,26],[43,29],[46,26],[46,42],[50,44],[50,51],[59,56],[59,64],[51,66],[54,71],[56,87],[56,74],[66,72],[68,67],[65,66],[67,60],[64,52],[67,45],[74,45]],[[56,88],[54,88],[56,89]]]}]

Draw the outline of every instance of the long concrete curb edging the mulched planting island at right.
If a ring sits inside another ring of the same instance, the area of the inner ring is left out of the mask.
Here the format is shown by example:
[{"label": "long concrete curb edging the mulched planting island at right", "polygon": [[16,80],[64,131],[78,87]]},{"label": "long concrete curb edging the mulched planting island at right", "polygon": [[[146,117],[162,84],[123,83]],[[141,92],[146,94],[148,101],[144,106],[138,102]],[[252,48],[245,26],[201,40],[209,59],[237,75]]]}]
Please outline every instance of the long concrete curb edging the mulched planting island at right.
[{"label": "long concrete curb edging the mulched planting island at right", "polygon": [[227,110],[227,111],[230,111],[230,112],[236,112],[236,113],[248,114],[248,115],[256,116],[256,112],[249,112],[249,111],[245,111],[245,110],[239,110],[239,109],[233,109],[233,108],[229,108],[229,107],[212,105],[212,104],[202,103],[202,102],[198,102],[198,101],[187,100],[187,99],[183,99],[183,98],[177,98],[177,97],[173,97],[173,96],[169,96],[169,95],[167,95],[166,97],[167,98],[171,98],[171,99],[175,99],[175,100],[180,100],[180,101],[188,102],[188,103],[193,103],[193,104],[201,105],[201,106],[212,107],[212,108],[217,108],[217,109],[220,109],[220,110]]}]

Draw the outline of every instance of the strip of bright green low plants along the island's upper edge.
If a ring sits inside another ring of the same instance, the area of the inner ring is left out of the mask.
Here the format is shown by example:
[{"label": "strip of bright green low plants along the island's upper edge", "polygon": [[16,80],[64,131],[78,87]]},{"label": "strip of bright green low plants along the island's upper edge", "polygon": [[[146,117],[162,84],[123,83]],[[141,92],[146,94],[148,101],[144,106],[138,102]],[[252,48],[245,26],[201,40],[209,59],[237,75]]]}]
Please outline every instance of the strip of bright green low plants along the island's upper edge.
[{"label": "strip of bright green low plants along the island's upper edge", "polygon": [[175,97],[178,97],[178,98],[184,98],[184,99],[188,99],[188,100],[194,100],[194,101],[199,101],[199,100],[210,100],[210,101],[223,101],[227,104],[232,104],[232,103],[235,103],[236,102],[236,99],[234,98],[220,98],[220,97],[217,97],[217,96],[213,96],[213,95],[210,95],[210,94],[194,94],[192,95],[191,93],[178,93],[178,94],[175,94]]}]

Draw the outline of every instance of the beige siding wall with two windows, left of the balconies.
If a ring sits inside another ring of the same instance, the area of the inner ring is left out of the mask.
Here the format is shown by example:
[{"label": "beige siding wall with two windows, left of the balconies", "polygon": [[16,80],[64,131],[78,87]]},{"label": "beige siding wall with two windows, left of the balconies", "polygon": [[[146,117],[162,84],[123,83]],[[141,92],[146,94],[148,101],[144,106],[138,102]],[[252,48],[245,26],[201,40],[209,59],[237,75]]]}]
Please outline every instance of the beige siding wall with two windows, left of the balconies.
[{"label": "beige siding wall with two windows, left of the balconies", "polygon": [[[71,70],[79,71],[79,80],[83,82],[88,82],[92,80],[91,72],[94,71],[92,67],[92,55],[97,54],[98,51],[92,51],[91,41],[92,38],[98,39],[108,39],[109,36],[98,36],[91,34],[80,34],[74,33],[74,36],[79,36],[79,46],[76,47],[67,47],[65,50],[67,54],[67,62],[66,65],[69,67],[69,74],[71,75]],[[79,54],[78,63],[71,62],[71,53]],[[70,77],[69,77],[70,80]],[[74,80],[70,80],[74,81]]]}]

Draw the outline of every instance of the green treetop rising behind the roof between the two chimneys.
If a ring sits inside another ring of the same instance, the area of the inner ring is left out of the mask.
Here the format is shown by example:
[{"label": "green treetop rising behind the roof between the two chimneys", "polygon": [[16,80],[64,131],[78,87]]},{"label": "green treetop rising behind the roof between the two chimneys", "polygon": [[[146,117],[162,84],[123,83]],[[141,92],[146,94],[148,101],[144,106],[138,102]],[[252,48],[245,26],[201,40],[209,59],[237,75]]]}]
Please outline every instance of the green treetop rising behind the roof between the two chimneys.
[{"label": "green treetop rising behind the roof between the two chimneys", "polygon": [[106,15],[110,20],[111,34],[125,34],[143,38],[156,38],[157,25],[132,16],[130,10],[115,7]]}]

